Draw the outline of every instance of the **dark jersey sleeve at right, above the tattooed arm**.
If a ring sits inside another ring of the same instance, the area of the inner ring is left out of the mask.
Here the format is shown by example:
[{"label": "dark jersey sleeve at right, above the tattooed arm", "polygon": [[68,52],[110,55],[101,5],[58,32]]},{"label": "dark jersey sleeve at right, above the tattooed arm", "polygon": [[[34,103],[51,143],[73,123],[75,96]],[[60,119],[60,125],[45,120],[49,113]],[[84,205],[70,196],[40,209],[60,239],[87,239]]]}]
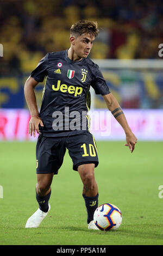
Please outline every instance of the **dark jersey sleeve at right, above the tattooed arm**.
[{"label": "dark jersey sleeve at right, above the tattooed arm", "polygon": [[110,93],[109,87],[106,84],[106,81],[102,75],[99,66],[96,64],[96,68],[92,70],[93,72],[93,80],[91,86],[95,90],[96,94],[106,95]]}]

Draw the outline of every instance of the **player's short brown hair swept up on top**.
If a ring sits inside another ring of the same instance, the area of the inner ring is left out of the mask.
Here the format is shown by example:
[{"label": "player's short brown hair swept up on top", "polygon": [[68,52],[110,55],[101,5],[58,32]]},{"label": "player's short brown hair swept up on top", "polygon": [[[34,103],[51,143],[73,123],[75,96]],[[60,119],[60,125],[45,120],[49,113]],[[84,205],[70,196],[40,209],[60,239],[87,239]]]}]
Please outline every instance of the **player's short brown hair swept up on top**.
[{"label": "player's short brown hair swept up on top", "polygon": [[87,21],[81,20],[74,23],[70,29],[70,35],[82,35],[89,34],[92,36],[97,36],[99,32],[97,21]]}]

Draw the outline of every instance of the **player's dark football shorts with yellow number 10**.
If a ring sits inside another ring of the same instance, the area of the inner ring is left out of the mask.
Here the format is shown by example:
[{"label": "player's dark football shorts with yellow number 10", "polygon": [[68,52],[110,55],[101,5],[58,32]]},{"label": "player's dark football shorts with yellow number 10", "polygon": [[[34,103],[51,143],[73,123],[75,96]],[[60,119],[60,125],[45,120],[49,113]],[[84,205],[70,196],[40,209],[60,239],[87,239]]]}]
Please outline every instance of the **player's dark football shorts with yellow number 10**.
[{"label": "player's dark football shorts with yellow number 10", "polygon": [[36,144],[36,173],[58,174],[66,149],[72,159],[73,170],[86,163],[98,166],[96,142],[90,132],[68,137],[43,137],[40,134]]}]

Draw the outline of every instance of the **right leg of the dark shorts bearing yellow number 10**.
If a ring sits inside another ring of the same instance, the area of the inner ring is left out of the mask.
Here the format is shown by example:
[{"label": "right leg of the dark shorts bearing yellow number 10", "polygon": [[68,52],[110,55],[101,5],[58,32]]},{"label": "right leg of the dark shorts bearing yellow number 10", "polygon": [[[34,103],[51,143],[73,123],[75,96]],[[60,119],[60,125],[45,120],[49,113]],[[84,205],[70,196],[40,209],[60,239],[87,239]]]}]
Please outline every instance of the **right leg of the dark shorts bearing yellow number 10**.
[{"label": "right leg of the dark shorts bearing yellow number 10", "polygon": [[73,161],[73,170],[78,170],[82,164],[94,163],[98,166],[98,155],[95,138],[89,132],[70,136],[66,147]]}]

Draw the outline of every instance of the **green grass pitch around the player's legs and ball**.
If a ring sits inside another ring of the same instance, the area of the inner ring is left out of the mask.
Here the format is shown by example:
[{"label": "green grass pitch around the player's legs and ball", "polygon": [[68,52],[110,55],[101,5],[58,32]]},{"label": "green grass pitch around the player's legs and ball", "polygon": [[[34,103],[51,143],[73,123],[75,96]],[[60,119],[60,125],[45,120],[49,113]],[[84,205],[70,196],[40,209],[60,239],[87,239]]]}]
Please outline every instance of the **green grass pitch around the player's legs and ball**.
[{"label": "green grass pitch around the player's legs and ball", "polygon": [[103,232],[87,229],[83,184],[68,152],[53,179],[51,211],[39,228],[25,229],[38,208],[35,143],[1,142],[0,245],[163,245],[163,143],[138,142],[132,154],[124,143],[97,142],[99,204],[123,216],[120,228]]}]

